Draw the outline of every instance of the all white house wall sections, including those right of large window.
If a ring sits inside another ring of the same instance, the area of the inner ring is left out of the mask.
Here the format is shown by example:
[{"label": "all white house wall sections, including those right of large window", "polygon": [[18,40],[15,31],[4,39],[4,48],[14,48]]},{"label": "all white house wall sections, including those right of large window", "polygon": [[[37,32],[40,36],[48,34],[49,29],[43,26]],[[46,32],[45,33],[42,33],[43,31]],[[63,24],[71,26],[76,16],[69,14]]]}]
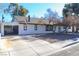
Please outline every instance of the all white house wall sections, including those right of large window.
[{"label": "all white house wall sections, including those right of large window", "polygon": [[[24,24],[19,24],[19,23],[2,23],[1,24],[1,35],[4,35],[4,26],[10,25],[10,26],[18,26],[18,34],[19,35],[25,35],[25,34],[41,34],[41,33],[54,33],[54,31],[46,31],[46,25],[37,25],[37,30],[34,29],[33,24],[27,24],[27,30],[24,30]],[[56,26],[53,27],[55,30],[55,33],[59,33],[59,27],[60,27],[60,32],[64,31],[63,26]],[[68,29],[68,32],[72,32],[72,27]]]}]

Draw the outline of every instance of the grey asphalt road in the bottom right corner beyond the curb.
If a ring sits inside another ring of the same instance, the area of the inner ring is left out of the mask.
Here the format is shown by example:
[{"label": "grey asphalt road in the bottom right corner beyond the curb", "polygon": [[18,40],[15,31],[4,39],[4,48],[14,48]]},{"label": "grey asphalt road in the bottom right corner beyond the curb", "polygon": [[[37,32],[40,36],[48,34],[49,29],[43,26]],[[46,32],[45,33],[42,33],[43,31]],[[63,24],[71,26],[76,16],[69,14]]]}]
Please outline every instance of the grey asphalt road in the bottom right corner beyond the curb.
[{"label": "grey asphalt road in the bottom right corner beyond the curb", "polygon": [[79,56],[79,43],[53,53],[51,56]]}]

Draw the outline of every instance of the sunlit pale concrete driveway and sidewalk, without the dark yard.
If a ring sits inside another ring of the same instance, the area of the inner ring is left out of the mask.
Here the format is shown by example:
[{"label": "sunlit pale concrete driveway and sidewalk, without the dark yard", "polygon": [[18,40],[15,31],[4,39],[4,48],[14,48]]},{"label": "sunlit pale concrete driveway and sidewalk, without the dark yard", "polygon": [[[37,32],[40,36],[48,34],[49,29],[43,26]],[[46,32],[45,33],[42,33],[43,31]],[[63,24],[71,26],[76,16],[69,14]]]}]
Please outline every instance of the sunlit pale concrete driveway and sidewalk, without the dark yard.
[{"label": "sunlit pale concrete driveway and sidewalk, without the dark yard", "polygon": [[[49,43],[47,41],[30,36],[27,37],[27,40],[22,39],[21,37],[17,37],[17,39],[12,39],[10,39],[10,41],[8,42],[8,46],[5,45],[7,52],[4,51],[5,54],[0,54],[8,56],[46,56],[67,46],[76,44],[79,41],[65,40],[56,43]],[[8,48],[11,49],[8,50]]]}]

